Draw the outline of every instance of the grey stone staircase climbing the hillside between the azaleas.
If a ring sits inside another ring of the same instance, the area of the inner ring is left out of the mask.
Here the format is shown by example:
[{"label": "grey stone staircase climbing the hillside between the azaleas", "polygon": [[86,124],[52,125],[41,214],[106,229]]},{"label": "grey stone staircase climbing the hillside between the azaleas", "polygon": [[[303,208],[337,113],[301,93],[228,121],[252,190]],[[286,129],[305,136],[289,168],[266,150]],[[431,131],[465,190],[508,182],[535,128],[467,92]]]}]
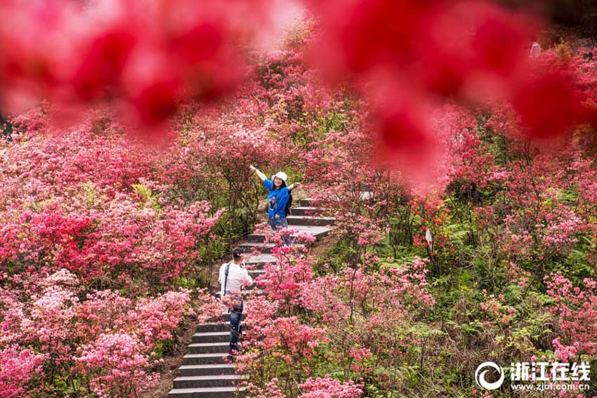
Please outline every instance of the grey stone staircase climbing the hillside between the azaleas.
[{"label": "grey stone staircase climbing the hillside between the azaleas", "polygon": [[[300,206],[292,208],[291,214],[287,218],[289,228],[308,232],[317,240],[327,236],[334,224],[334,218],[317,215],[317,208],[313,207],[311,199],[301,199]],[[244,247],[249,252],[256,247],[261,252],[246,261],[247,265],[255,266],[249,274],[256,279],[265,272],[263,265],[275,263],[276,258],[271,254],[271,249],[275,245],[265,244],[264,234],[250,234],[248,239],[249,241],[241,244],[240,247]],[[230,363],[228,357],[229,336],[230,314],[223,314],[219,322],[197,325],[197,333],[192,336],[188,354],[183,357],[183,365],[178,368],[179,376],[174,379],[173,389],[168,393],[168,398],[236,396],[240,390],[235,387],[235,381],[240,380],[242,376],[235,374],[234,365]],[[240,345],[242,347],[242,340]]]}]

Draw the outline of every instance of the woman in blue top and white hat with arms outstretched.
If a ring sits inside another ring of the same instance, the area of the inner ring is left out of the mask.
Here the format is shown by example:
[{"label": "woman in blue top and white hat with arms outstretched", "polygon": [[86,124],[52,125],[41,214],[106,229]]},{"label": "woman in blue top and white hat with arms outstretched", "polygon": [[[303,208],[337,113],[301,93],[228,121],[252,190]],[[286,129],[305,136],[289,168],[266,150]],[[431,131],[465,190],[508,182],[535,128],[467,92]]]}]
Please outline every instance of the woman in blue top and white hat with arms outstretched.
[{"label": "woman in blue top and white hat with arms outstretched", "polygon": [[[254,171],[261,180],[263,180],[263,186],[269,191],[268,193],[268,219],[270,220],[270,227],[272,230],[280,230],[288,227],[288,221],[286,220],[286,205],[290,196],[290,191],[294,187],[298,187],[301,183],[294,183],[287,185],[288,175],[279,171],[273,175],[272,180],[265,177],[265,174],[258,171],[254,166],[250,166],[251,171]],[[289,246],[292,241],[289,236],[282,238],[284,244]]]}]

